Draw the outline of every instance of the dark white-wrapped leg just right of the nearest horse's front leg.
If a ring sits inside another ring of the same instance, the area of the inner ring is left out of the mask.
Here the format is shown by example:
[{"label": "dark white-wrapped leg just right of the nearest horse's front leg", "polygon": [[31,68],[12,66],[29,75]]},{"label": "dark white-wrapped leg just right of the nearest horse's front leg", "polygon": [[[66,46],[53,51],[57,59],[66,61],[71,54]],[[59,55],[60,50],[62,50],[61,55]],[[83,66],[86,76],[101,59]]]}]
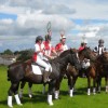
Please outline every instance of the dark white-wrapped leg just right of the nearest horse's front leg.
[{"label": "dark white-wrapped leg just right of the nearest horse's front leg", "polygon": [[55,99],[58,99],[58,97],[59,97],[59,87],[60,87],[62,80],[63,80],[63,76],[60,76],[60,78],[57,79],[55,82],[55,91],[54,91],[54,98]]}]

